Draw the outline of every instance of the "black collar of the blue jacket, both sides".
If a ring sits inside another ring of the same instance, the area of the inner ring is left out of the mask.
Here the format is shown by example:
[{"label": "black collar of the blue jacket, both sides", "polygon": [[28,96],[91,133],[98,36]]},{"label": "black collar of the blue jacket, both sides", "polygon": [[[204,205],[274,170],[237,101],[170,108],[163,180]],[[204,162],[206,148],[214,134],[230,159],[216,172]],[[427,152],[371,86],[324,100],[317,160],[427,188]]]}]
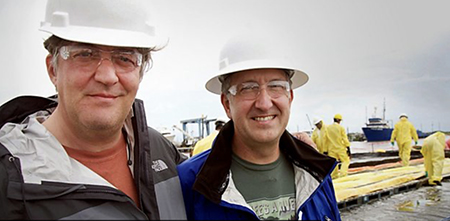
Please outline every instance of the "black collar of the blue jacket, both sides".
[{"label": "black collar of the blue jacket, both sides", "polygon": [[[211,152],[193,185],[193,190],[215,203],[220,202],[228,186],[233,135],[234,123],[230,120],[217,135]],[[293,137],[288,131],[284,131],[281,135],[280,149],[289,161],[308,171],[319,182],[322,182],[334,168],[334,158],[320,154],[313,147]]]}]

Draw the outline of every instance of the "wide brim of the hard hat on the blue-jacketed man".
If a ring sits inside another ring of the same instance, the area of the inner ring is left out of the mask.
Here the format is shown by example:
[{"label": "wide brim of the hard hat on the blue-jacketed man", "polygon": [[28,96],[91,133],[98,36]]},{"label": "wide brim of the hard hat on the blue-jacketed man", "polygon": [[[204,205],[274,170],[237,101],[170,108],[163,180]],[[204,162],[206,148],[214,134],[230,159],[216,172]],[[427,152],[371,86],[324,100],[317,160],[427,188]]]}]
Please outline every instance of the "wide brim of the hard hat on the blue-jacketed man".
[{"label": "wide brim of the hard hat on the blue-jacketed man", "polygon": [[292,65],[283,64],[283,63],[280,63],[279,61],[273,61],[273,60],[253,60],[253,61],[239,62],[239,63],[235,63],[235,64],[227,66],[226,68],[220,70],[216,76],[209,79],[206,82],[205,87],[208,91],[210,91],[214,94],[220,95],[222,93],[222,83],[219,80],[220,76],[239,72],[239,71],[246,71],[246,70],[253,70],[253,69],[272,69],[272,68],[287,69],[287,70],[294,71],[294,74],[291,77],[291,81],[292,81],[291,89],[296,89],[296,88],[304,85],[309,80],[309,77],[305,72],[292,67]]}]

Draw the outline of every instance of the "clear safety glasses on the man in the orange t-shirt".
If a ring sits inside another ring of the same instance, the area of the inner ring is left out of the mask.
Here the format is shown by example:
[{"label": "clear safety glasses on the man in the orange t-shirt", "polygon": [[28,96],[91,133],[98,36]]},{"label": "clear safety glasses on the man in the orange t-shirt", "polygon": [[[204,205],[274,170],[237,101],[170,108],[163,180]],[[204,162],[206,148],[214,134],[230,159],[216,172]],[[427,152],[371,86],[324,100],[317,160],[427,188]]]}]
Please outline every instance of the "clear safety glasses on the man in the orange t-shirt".
[{"label": "clear safety glasses on the man in the orange t-shirt", "polygon": [[[110,58],[102,57],[102,53],[110,54]],[[95,71],[104,59],[110,60],[118,73],[128,73],[142,65],[142,54],[131,49],[106,51],[89,46],[68,45],[61,47],[59,54],[64,60],[71,61],[86,71]]]}]

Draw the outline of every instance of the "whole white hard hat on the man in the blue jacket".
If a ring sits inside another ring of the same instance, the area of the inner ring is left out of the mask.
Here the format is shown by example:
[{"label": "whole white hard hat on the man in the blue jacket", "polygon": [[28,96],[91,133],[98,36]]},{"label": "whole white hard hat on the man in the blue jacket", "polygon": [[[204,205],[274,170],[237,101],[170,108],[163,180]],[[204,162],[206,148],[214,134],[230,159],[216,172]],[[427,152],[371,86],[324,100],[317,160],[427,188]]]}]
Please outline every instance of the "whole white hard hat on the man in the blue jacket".
[{"label": "whole white hard hat on the man in the blue jacket", "polygon": [[221,94],[222,83],[219,76],[262,68],[291,70],[292,89],[302,86],[308,81],[308,75],[290,63],[285,53],[278,51],[280,44],[283,43],[281,41],[268,41],[252,34],[231,38],[220,52],[219,73],[206,82],[206,89]]}]

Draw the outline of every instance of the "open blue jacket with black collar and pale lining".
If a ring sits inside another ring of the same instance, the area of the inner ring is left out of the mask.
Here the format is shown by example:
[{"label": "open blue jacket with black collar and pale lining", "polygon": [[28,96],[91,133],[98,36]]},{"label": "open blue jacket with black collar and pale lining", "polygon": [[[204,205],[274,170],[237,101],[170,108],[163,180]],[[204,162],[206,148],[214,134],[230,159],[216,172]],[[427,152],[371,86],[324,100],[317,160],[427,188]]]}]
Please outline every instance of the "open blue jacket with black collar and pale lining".
[{"label": "open blue jacket with black collar and pale lining", "polygon": [[[178,165],[189,220],[258,219],[230,175],[233,134],[233,122],[229,121],[212,149]],[[287,131],[281,136],[280,150],[294,165],[298,219],[341,220],[330,176],[336,161]]]}]

